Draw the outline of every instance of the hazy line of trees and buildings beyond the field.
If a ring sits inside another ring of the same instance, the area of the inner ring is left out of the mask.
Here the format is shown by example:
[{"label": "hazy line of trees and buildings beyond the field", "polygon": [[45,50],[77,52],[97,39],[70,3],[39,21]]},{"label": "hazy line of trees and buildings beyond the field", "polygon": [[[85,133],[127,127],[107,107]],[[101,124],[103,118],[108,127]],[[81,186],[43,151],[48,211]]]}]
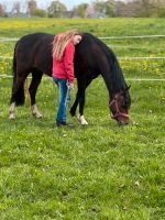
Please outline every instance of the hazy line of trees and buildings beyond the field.
[{"label": "hazy line of trees and buildings beyond the field", "polygon": [[15,0],[10,12],[0,3],[0,16],[47,16],[47,18],[112,18],[112,16],[157,16],[165,18],[165,0],[95,0],[80,3],[72,10],[59,0],[53,0],[45,9],[37,7],[36,0]]}]

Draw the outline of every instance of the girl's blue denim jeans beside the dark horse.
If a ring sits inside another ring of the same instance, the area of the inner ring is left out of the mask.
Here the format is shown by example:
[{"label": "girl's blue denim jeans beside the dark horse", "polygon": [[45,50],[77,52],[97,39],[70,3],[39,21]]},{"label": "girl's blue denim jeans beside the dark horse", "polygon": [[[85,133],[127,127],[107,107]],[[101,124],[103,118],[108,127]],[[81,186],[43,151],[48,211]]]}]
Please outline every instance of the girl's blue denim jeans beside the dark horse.
[{"label": "girl's blue denim jeans beside the dark horse", "polygon": [[58,122],[66,122],[66,109],[69,100],[69,89],[67,88],[67,79],[59,79],[53,77],[53,80],[59,88],[59,103],[56,120]]}]

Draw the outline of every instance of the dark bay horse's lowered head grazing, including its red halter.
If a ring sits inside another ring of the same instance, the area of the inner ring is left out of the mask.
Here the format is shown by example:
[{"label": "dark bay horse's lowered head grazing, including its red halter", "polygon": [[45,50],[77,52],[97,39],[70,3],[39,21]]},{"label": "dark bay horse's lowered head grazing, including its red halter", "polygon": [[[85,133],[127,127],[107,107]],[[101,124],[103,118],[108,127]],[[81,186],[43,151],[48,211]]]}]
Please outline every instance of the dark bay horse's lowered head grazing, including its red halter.
[{"label": "dark bay horse's lowered head grazing, including its red halter", "polygon": [[110,101],[111,118],[116,119],[119,125],[124,125],[130,122],[129,108],[131,106],[131,98],[129,94],[130,86],[116,94]]}]

